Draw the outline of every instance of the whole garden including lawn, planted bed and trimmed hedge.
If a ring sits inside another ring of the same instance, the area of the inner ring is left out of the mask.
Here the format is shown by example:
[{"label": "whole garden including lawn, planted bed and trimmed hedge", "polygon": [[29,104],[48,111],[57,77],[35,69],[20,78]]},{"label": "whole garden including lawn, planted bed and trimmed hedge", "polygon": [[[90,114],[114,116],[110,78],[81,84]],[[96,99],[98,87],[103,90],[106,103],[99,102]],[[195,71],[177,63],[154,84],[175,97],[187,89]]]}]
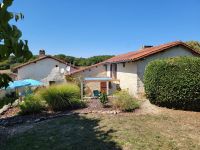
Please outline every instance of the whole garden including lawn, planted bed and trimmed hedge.
[{"label": "whole garden including lawn, planted bed and trimmed hedge", "polygon": [[81,100],[74,83],[39,88],[1,115],[2,149],[199,149],[199,63],[191,57],[149,63],[149,100],[123,90]]}]

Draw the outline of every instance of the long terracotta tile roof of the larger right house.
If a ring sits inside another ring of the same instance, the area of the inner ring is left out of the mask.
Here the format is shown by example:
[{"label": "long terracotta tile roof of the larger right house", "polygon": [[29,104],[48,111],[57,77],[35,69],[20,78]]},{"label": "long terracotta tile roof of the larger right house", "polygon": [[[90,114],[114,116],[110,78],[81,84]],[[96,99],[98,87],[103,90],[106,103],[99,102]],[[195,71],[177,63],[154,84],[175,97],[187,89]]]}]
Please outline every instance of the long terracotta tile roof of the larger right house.
[{"label": "long terracotta tile roof of the larger right house", "polygon": [[106,63],[118,63],[118,62],[136,61],[136,60],[145,58],[147,56],[150,56],[150,55],[165,51],[165,50],[167,50],[169,48],[176,47],[176,46],[184,46],[184,47],[188,48],[189,50],[191,50],[194,54],[200,55],[200,52],[192,49],[187,44],[185,44],[185,43],[183,43],[181,41],[175,41],[175,42],[171,42],[171,43],[167,43],[167,44],[162,44],[162,45],[159,45],[159,46],[143,48],[143,49],[140,49],[138,51],[133,51],[133,52],[129,52],[129,53],[126,53],[126,54],[121,54],[121,55],[112,57],[112,58],[110,58],[108,60],[105,60],[104,62],[101,62],[101,63],[95,64],[95,65],[86,67],[84,69],[76,70],[76,71],[72,72],[70,75],[73,75],[73,74],[79,73],[81,71],[84,71],[84,70],[87,70],[87,69],[91,69],[93,67],[96,67],[96,66],[99,66],[99,65],[102,65],[102,64],[106,64]]}]

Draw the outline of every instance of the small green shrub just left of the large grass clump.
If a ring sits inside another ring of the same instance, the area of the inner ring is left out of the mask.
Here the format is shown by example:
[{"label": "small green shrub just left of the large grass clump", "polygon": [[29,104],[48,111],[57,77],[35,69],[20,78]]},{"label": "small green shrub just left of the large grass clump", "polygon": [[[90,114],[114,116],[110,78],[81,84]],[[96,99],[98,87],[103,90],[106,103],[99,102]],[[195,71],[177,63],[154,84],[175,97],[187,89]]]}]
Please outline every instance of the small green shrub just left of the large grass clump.
[{"label": "small green shrub just left of the large grass clump", "polygon": [[37,114],[45,109],[45,102],[38,94],[31,94],[24,98],[19,107],[22,115]]}]

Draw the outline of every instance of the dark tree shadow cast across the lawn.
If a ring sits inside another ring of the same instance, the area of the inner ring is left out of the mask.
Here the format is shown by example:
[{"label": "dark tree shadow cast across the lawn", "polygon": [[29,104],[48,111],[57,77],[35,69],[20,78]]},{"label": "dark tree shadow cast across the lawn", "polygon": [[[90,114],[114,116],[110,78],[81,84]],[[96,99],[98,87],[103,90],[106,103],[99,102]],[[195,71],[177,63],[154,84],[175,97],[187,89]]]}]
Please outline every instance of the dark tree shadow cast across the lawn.
[{"label": "dark tree shadow cast across the lawn", "polygon": [[120,150],[112,129],[99,126],[99,119],[74,114],[45,121],[10,138],[2,149],[99,149]]}]

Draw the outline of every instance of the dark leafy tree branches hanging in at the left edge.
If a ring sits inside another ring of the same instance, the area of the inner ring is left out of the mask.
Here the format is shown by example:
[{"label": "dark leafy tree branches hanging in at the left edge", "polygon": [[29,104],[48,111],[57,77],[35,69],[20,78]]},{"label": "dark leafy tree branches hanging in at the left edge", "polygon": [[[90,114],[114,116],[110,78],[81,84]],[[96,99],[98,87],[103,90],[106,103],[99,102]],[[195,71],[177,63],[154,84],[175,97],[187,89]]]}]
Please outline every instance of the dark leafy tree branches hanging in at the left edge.
[{"label": "dark leafy tree branches hanging in at the left edge", "polygon": [[[29,59],[32,53],[28,47],[27,40],[21,40],[22,32],[15,25],[9,23],[10,20],[23,19],[22,13],[9,12],[8,8],[13,4],[13,0],[3,0],[0,2],[0,61],[8,59],[12,54],[17,58]],[[11,78],[6,74],[0,74],[0,88],[8,86]]]}]

